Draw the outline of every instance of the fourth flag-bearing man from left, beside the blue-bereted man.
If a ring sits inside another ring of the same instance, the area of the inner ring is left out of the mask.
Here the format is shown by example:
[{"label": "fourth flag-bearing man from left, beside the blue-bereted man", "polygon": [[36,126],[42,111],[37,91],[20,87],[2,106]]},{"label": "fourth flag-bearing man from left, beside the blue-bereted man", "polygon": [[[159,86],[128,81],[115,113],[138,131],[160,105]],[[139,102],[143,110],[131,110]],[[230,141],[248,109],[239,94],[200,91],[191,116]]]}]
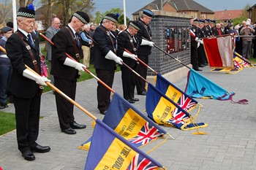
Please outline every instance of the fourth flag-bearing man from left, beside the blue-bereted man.
[{"label": "fourth flag-bearing man from left, beside the blue-bereted man", "polygon": [[[138,39],[135,38],[135,35],[140,30],[138,23],[131,21],[128,25],[128,28],[125,31],[122,31],[118,35],[118,56],[121,56],[124,63],[126,63],[130,68],[135,69],[137,66],[137,50],[138,50]],[[126,50],[129,51],[127,53]],[[126,66],[121,65],[121,80],[123,85],[123,95],[124,98],[131,104],[135,101],[139,101],[138,98],[134,97],[135,93],[135,74],[128,69]]]}]

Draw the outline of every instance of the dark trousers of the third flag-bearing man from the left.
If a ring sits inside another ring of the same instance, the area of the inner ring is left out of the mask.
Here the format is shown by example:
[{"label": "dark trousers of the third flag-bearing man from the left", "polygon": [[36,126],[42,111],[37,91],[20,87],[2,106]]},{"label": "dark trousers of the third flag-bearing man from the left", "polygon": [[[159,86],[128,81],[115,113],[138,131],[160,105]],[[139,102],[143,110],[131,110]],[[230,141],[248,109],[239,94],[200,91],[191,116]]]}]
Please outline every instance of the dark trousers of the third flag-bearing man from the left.
[{"label": "dark trousers of the third flag-bearing man from the left", "polygon": [[[99,77],[102,82],[105,82],[110,88],[112,88],[115,71],[96,69],[97,77]],[[104,112],[108,109],[110,105],[110,90],[105,88],[100,82],[98,82],[97,87],[97,101],[99,112]]]}]

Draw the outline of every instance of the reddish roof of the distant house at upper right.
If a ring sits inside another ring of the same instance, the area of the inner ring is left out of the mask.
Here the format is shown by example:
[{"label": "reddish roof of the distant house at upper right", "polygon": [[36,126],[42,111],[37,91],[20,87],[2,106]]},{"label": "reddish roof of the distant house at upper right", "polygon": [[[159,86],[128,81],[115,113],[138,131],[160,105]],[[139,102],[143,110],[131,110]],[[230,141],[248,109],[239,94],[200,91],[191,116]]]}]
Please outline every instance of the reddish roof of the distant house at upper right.
[{"label": "reddish roof of the distant house at upper right", "polygon": [[242,15],[243,11],[244,11],[243,9],[215,11],[214,19],[215,20],[230,20],[230,19],[232,20]]}]

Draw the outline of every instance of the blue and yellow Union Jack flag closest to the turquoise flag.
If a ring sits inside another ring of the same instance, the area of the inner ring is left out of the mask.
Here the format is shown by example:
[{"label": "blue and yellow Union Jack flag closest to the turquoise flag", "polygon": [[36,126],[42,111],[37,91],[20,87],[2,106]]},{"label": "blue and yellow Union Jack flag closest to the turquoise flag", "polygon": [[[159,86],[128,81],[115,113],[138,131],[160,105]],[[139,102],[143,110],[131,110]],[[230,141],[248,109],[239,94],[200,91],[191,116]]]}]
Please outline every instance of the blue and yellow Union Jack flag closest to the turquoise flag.
[{"label": "blue and yellow Union Jack flag closest to the turquoise flag", "polygon": [[165,77],[162,77],[161,74],[157,74],[156,88],[187,112],[197,106],[198,102],[194,98],[188,96]]}]

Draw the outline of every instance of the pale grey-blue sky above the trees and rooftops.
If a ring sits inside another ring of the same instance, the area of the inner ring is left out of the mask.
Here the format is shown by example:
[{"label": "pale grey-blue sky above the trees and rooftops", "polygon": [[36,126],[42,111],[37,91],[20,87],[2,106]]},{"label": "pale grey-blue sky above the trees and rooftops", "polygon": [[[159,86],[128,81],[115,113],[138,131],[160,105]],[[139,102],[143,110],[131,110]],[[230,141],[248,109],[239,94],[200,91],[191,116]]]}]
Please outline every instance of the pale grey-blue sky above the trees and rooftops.
[{"label": "pale grey-blue sky above the trees and rooftops", "polygon": [[[123,0],[93,0],[95,5],[95,10],[99,12],[105,12],[112,8],[121,8],[123,9]],[[146,4],[149,4],[153,0],[125,0],[127,17],[132,18],[132,13],[138,9],[144,7]],[[164,0],[163,0],[164,1]],[[222,11],[222,10],[232,10],[232,9],[244,9],[246,4],[252,6],[256,4],[255,0],[195,0],[197,3],[202,4],[204,7],[211,9],[213,11]]]}]

